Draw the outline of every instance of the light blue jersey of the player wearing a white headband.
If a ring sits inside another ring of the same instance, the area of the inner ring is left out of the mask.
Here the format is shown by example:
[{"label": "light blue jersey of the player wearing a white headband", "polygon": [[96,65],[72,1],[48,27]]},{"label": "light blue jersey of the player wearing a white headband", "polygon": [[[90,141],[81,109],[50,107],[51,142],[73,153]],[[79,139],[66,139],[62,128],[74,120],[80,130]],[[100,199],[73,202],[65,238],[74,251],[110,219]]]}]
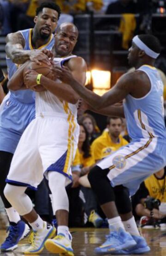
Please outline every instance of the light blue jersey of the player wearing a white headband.
[{"label": "light blue jersey of the player wearing a white headband", "polygon": [[125,98],[124,110],[129,136],[133,141],[156,137],[158,141],[166,143],[163,83],[160,74],[155,67],[148,65],[143,65],[138,70],[148,75],[151,89],[142,98],[133,98],[131,95]]}]

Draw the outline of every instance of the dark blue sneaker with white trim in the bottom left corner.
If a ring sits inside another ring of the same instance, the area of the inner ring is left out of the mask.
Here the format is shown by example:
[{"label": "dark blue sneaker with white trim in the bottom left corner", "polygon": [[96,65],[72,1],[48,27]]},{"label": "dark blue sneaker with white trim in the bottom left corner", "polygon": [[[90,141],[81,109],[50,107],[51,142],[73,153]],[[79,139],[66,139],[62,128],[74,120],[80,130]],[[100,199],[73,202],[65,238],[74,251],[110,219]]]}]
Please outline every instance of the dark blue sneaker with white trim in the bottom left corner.
[{"label": "dark blue sneaker with white trim in the bottom left corner", "polygon": [[30,227],[24,221],[19,220],[17,224],[11,223],[7,229],[8,236],[0,246],[1,251],[12,251],[18,247],[18,242],[30,232]]}]

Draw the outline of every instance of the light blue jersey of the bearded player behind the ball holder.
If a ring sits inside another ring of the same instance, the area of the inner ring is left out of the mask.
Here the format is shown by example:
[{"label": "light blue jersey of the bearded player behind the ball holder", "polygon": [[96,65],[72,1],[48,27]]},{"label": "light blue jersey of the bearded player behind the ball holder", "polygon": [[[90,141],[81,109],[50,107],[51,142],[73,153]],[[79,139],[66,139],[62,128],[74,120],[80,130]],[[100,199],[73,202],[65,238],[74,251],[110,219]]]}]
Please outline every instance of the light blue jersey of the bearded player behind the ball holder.
[{"label": "light blue jersey of the bearded player behind the ball holder", "polygon": [[[27,30],[21,30],[19,31],[25,40],[25,47],[24,50],[33,50],[33,47],[31,45],[31,37],[32,37],[32,29]],[[53,34],[50,37],[50,40],[47,44],[42,45],[38,49],[44,49],[47,48],[48,50],[51,50],[54,45],[54,37]],[[12,75],[17,71],[18,65],[13,63],[10,58],[6,57],[7,62],[7,68],[8,68],[8,78],[11,79]],[[17,99],[19,102],[22,103],[34,103],[35,102],[35,93],[31,90],[19,90],[19,91],[10,91],[11,97]]]}]

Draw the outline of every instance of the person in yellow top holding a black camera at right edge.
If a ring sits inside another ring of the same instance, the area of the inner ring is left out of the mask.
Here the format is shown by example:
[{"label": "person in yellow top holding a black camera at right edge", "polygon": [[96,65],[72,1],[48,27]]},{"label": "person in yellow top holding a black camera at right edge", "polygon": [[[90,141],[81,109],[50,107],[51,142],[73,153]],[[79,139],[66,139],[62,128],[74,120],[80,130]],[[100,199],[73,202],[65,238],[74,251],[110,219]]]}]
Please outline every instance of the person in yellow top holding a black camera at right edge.
[{"label": "person in yellow top holding a black camera at right edge", "polygon": [[140,225],[155,225],[155,219],[166,223],[166,167],[141,183],[132,204],[135,218],[142,217]]}]

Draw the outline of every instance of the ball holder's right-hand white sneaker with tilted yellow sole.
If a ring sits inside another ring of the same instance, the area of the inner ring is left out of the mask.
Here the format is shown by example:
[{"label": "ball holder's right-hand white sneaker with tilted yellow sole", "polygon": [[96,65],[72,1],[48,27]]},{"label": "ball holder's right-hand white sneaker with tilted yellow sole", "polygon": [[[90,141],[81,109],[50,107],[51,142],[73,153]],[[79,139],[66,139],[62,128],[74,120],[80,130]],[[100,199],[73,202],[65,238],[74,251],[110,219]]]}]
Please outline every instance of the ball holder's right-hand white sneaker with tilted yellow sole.
[{"label": "ball holder's right-hand white sneaker with tilted yellow sole", "polygon": [[45,242],[45,247],[49,252],[59,254],[60,256],[74,256],[71,247],[71,236],[66,238],[62,233],[53,239],[47,239]]}]

